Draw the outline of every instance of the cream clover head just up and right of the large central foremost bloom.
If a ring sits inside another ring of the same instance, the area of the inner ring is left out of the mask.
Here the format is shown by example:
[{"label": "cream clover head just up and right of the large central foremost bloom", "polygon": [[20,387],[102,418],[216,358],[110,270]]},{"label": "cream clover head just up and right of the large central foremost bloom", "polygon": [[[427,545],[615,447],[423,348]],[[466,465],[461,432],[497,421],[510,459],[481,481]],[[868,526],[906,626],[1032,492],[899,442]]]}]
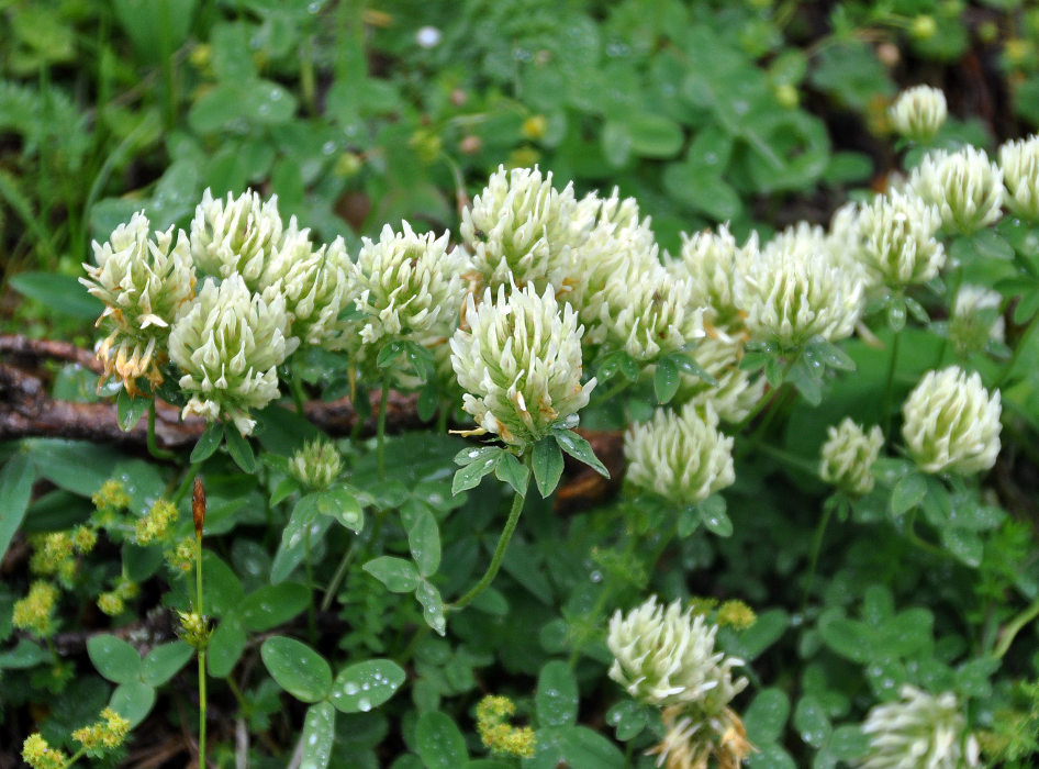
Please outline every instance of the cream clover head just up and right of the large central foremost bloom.
[{"label": "cream clover head just up and right of the large central foremost bloom", "polygon": [[705,336],[704,309],[689,303],[689,283],[659,263],[618,265],[603,289],[589,343],[653,360]]}]

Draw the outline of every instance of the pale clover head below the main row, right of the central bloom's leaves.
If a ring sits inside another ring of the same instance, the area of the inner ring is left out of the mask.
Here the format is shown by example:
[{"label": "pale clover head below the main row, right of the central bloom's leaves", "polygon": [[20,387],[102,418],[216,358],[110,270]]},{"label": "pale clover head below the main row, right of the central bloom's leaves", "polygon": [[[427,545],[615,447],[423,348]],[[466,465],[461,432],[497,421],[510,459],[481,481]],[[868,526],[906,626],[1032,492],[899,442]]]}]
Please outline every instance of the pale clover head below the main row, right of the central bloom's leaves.
[{"label": "pale clover head below the main row, right of the central bloom's leaves", "polygon": [[677,504],[694,504],[736,480],[733,438],[718,431],[710,401],[658,409],[624,434],[628,481]]}]

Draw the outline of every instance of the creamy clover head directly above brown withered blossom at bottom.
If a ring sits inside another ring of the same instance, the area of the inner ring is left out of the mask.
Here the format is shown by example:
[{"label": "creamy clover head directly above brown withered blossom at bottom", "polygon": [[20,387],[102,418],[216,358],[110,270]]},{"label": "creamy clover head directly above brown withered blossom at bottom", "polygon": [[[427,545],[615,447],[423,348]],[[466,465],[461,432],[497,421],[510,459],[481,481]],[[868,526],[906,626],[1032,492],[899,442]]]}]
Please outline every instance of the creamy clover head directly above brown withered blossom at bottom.
[{"label": "creamy clover head directly above brown withered blossom at bottom", "polygon": [[610,678],[639,702],[718,716],[747,679],[733,680],[741,659],[715,651],[717,629],[692,609],[682,611],[681,601],[658,605],[656,595],[627,614],[617,610],[606,638],[614,656]]}]

